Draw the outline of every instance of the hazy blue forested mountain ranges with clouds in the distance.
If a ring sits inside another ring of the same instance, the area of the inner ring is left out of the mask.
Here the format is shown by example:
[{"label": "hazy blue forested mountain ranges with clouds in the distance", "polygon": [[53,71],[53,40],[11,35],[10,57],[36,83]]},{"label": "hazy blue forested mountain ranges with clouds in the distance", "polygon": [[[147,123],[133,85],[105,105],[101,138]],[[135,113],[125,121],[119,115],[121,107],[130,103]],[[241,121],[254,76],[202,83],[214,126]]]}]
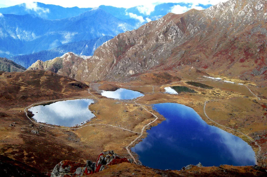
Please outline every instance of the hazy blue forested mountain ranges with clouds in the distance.
[{"label": "hazy blue forested mountain ranges with clouds in the distance", "polygon": [[[37,58],[45,61],[63,52],[92,55],[106,40],[161,18],[175,5],[189,6],[163,3],[152,12],[142,13],[140,6],[63,8],[39,2],[0,8],[0,57],[28,67]],[[88,43],[86,49],[85,43]]]}]

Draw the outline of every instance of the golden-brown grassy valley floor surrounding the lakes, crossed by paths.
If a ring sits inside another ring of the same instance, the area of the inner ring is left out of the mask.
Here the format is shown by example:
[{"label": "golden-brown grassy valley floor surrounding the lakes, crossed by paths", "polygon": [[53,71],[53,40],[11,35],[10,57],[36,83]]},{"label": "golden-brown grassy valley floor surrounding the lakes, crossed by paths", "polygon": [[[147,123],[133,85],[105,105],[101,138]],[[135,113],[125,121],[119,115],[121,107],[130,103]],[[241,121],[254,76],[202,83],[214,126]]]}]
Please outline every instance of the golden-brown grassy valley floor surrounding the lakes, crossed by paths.
[{"label": "golden-brown grassy valley floor surrounding the lakes, crossed by paths", "polygon": [[[169,76],[168,79],[166,74]],[[37,78],[36,75],[38,75]],[[49,80],[55,77],[58,82],[53,82],[51,86]],[[0,75],[0,153],[33,166],[41,172],[50,172],[61,160],[81,163],[87,159],[94,161],[102,151],[106,150],[114,150],[117,154],[133,158],[138,162],[137,155],[130,152],[130,147],[146,137],[145,130],[165,119],[152,110],[150,105],[173,102],[193,108],[208,124],[242,138],[255,151],[258,165],[265,166],[267,163],[265,159],[267,100],[263,95],[267,95],[267,89],[257,87],[249,81],[224,79],[244,85],[207,79],[202,73],[190,68],[180,73],[145,73],[129,83],[104,81],[87,83],[90,85],[89,88],[82,83],[76,83],[75,80],[48,71],[3,73]],[[188,81],[206,84],[213,89],[189,85]],[[197,93],[178,95],[164,93],[164,88],[168,86],[187,86]],[[139,91],[145,96],[134,100],[114,100],[99,94],[100,90],[117,88]],[[66,128],[38,124],[24,113],[24,108],[28,108],[30,104],[77,97],[90,97],[95,100],[89,109],[96,117],[81,127]],[[39,133],[35,134],[32,130],[38,130]],[[229,169],[235,171],[236,168],[239,173],[255,170],[251,167],[222,166],[194,167],[188,173],[188,170],[166,172],[123,163],[110,166],[108,170],[100,173],[103,176],[121,175],[117,173],[128,169],[129,175],[130,173],[144,173],[143,176],[171,173],[195,176],[193,171],[222,175],[222,172]],[[128,172],[125,173],[128,174]],[[257,176],[257,173],[254,174]]]}]

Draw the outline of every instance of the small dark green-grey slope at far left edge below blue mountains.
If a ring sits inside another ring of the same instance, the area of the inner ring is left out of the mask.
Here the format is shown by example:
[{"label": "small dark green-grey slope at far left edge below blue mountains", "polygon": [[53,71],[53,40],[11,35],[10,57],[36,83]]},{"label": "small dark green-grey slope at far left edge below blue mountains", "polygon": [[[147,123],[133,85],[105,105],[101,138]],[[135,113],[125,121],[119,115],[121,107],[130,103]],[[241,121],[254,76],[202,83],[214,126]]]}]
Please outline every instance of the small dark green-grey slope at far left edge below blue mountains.
[{"label": "small dark green-grey slope at far left edge below blue mountains", "polygon": [[12,60],[8,60],[7,58],[0,58],[0,71],[5,71],[5,72],[13,72],[13,71],[18,71],[22,72],[25,71],[26,68],[23,66],[13,62]]}]

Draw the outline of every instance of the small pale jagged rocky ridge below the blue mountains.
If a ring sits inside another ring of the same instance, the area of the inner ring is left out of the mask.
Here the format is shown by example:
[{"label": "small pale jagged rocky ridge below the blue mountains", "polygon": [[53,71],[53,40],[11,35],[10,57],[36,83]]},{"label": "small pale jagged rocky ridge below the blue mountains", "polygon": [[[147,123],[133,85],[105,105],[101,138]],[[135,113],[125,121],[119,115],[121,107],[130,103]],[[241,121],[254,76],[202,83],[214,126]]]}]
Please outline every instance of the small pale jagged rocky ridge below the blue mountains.
[{"label": "small pale jagged rocky ridge below the blue mountains", "polygon": [[47,60],[45,62],[37,60],[27,70],[45,70],[65,75],[70,78],[75,77],[75,71],[78,65],[86,58],[90,56],[79,56],[72,52],[68,52],[61,57],[54,58],[53,60]]}]

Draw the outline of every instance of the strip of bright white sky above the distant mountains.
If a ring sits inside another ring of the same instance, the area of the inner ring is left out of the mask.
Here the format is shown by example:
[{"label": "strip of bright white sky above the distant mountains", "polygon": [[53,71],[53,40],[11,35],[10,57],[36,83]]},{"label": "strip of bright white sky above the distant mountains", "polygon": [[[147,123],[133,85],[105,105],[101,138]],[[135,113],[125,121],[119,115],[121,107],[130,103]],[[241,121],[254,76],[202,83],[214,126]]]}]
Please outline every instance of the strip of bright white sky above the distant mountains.
[{"label": "strip of bright white sky above the distant mountains", "polygon": [[[84,0],[75,0],[75,1],[66,1],[66,0],[36,0],[35,2],[41,2],[45,4],[54,4],[60,5],[62,7],[79,7],[79,8],[94,8],[99,5],[111,5],[114,7],[123,7],[123,8],[131,8],[135,6],[142,5],[147,9],[153,8],[153,6],[159,3],[190,3],[192,7],[197,7],[198,4],[202,5],[215,5],[219,2],[225,2],[226,0],[134,0],[134,1],[116,1],[116,0],[101,0],[101,1],[84,1]],[[32,0],[1,0],[0,5],[13,6],[21,3],[32,3]],[[182,6],[184,7],[184,6]]]}]

